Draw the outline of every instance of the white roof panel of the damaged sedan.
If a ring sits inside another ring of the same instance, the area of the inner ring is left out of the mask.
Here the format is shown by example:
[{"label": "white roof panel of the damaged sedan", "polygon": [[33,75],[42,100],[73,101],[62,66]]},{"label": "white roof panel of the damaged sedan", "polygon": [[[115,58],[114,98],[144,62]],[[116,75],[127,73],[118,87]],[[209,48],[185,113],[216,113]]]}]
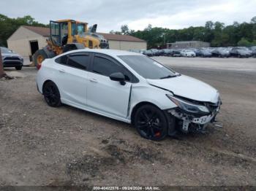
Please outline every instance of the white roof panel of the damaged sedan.
[{"label": "white roof panel of the damaged sedan", "polygon": [[106,55],[112,55],[112,56],[118,56],[118,55],[142,55],[138,52],[130,52],[126,50],[113,50],[113,49],[79,49],[79,50],[72,50],[69,51],[68,53],[73,53],[73,52],[98,52],[98,53],[103,53]]}]

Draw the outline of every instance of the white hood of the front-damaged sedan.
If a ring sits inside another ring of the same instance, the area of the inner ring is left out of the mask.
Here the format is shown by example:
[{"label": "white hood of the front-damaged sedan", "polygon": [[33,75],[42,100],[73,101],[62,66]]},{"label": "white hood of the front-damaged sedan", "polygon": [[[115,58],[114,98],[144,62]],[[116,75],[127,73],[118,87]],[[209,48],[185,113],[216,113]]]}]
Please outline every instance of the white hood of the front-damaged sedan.
[{"label": "white hood of the front-damaged sedan", "polygon": [[195,101],[206,101],[217,103],[218,91],[198,79],[181,75],[167,79],[147,79],[150,85],[170,90],[174,95],[189,98]]}]

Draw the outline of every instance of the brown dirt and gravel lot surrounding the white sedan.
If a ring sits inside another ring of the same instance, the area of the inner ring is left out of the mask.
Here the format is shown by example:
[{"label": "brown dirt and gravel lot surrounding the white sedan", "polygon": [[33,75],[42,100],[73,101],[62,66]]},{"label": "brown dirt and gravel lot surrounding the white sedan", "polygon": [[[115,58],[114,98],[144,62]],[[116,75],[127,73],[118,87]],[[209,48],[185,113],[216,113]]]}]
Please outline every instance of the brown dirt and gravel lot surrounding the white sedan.
[{"label": "brown dirt and gravel lot surrounding the white sedan", "polygon": [[156,59],[219,90],[223,128],[148,141],[123,122],[51,108],[24,68],[0,80],[0,185],[256,186],[256,59]]}]

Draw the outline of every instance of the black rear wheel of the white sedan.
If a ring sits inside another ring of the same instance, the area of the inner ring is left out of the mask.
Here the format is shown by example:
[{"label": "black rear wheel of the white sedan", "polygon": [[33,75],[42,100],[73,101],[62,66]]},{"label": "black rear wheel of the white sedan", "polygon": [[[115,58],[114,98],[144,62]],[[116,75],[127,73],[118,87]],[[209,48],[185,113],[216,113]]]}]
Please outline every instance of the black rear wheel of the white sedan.
[{"label": "black rear wheel of the white sedan", "polygon": [[55,83],[47,82],[43,87],[42,94],[49,106],[57,107],[61,105],[61,95]]}]

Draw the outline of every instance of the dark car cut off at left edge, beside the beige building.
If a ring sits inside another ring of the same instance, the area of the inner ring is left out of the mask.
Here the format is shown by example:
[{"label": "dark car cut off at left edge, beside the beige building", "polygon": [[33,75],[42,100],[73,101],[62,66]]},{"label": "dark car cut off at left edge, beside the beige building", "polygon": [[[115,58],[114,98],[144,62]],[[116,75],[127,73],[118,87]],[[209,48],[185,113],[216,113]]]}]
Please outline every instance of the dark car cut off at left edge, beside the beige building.
[{"label": "dark car cut off at left edge, beside the beige building", "polygon": [[12,50],[9,50],[7,47],[0,48],[4,67],[15,67],[16,70],[21,70],[23,66],[23,57]]}]

